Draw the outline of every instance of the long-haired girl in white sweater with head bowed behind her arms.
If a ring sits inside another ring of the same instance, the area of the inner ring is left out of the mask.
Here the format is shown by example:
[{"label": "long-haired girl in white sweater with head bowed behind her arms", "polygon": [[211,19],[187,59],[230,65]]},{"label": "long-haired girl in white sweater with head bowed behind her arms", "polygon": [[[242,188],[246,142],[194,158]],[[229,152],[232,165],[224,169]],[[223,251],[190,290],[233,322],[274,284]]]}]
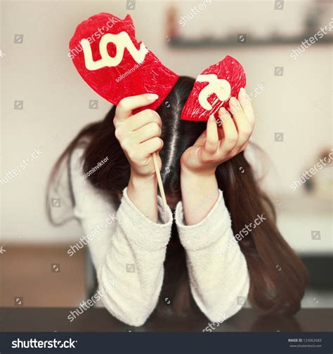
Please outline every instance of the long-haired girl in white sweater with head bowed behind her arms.
[{"label": "long-haired girl in white sweater with head bowed behind her arms", "polygon": [[172,315],[200,309],[222,322],[247,298],[261,313],[296,313],[306,268],[276,228],[273,205],[244,158],[254,128],[249,97],[241,89],[231,114],[221,109],[218,120],[182,121],[194,82],[181,76],[157,111],[132,114],[154,94],[124,98],[81,130],[55,164],[53,176],[69,163],[84,231],[98,229],[87,242],[103,304],[134,326],[155,307]]}]

